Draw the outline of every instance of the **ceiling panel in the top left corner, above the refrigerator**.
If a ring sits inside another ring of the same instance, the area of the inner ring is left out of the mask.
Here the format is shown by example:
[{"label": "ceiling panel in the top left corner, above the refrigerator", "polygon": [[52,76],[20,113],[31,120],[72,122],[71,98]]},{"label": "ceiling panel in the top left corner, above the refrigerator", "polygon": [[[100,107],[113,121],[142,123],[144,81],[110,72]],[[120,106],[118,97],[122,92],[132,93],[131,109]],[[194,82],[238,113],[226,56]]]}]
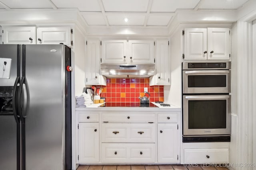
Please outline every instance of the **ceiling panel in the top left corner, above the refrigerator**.
[{"label": "ceiling panel in the top left corner, above the refrigerator", "polygon": [[52,8],[48,0],[1,0],[1,2],[12,9]]}]

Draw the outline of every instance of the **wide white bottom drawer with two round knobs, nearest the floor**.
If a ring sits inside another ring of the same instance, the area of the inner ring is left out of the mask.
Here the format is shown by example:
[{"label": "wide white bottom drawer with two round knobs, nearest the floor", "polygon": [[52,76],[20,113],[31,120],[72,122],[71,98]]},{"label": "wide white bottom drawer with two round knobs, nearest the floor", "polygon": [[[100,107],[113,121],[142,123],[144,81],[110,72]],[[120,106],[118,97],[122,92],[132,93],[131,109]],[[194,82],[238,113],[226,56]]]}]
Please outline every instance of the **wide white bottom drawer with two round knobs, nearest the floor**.
[{"label": "wide white bottom drawer with two round knobs, nearest the floor", "polygon": [[155,144],[102,143],[102,162],[154,162]]}]

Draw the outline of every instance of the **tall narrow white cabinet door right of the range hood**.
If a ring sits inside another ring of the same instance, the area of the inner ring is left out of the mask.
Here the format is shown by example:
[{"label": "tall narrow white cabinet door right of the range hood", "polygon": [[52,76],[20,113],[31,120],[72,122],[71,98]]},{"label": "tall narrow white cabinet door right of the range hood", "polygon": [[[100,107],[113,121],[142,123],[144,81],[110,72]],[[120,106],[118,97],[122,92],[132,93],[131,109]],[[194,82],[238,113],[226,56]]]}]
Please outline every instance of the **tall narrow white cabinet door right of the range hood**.
[{"label": "tall narrow white cabinet door right of the range hood", "polygon": [[156,84],[170,85],[170,62],[168,40],[156,41]]}]

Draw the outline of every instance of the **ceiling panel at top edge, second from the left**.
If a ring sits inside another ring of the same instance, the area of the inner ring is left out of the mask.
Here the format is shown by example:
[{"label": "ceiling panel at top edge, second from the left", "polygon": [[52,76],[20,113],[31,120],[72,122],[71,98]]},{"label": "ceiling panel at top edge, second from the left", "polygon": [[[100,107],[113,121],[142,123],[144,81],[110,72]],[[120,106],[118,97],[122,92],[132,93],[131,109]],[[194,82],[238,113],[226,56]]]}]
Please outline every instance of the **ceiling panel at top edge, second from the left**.
[{"label": "ceiling panel at top edge, second from the left", "polygon": [[52,0],[57,8],[78,8],[80,11],[101,12],[98,0]]}]

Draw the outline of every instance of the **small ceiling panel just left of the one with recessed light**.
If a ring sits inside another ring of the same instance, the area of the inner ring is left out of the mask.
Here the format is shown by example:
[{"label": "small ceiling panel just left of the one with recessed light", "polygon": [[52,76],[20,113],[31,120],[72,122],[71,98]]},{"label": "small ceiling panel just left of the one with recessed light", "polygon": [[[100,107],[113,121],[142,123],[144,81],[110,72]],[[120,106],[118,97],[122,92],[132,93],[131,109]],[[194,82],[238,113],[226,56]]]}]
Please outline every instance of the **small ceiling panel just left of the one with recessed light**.
[{"label": "small ceiling panel just left of the one with recessed light", "polygon": [[83,14],[83,12],[81,13],[88,25],[106,25],[102,14]]}]

